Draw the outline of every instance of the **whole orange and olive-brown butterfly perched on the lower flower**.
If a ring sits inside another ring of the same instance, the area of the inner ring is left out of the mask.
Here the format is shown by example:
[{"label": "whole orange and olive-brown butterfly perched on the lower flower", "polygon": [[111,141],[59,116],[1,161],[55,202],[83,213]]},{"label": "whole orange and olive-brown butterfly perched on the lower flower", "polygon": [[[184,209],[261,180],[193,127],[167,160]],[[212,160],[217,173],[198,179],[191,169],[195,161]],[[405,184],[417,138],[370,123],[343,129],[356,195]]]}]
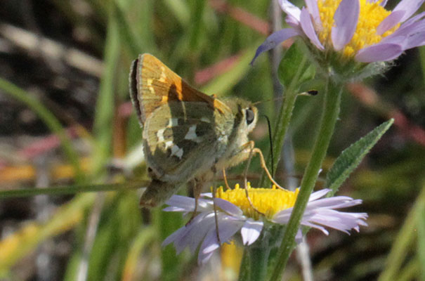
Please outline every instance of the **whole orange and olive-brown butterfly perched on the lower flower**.
[{"label": "whole orange and olive-brown butterfly perched on the lower flower", "polygon": [[141,207],[164,203],[188,182],[199,194],[216,171],[251,155],[258,110],[248,100],[197,91],[148,53],[133,61],[129,88],[152,179]]}]

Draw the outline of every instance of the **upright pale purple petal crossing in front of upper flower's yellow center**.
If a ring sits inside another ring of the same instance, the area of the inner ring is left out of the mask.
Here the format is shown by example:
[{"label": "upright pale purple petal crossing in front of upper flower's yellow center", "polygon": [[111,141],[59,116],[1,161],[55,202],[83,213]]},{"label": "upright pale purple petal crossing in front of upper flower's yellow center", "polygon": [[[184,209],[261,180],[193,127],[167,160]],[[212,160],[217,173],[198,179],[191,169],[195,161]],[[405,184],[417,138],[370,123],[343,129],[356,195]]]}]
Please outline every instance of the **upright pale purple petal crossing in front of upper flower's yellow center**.
[{"label": "upright pale purple petal crossing in front of upper flower's yellow center", "polygon": [[360,14],[359,0],[342,0],[334,14],[331,38],[335,51],[340,51],[353,38]]}]

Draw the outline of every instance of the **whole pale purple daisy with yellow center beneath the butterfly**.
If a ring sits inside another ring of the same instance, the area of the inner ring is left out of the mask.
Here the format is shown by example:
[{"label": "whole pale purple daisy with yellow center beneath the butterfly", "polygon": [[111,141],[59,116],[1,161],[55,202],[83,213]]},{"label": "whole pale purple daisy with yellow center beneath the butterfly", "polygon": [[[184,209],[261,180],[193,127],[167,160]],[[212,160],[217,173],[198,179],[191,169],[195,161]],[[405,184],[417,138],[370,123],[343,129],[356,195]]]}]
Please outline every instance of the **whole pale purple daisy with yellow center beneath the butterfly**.
[{"label": "whole pale purple daisy with yellow center beneath the butterfly", "polygon": [[[330,190],[324,189],[310,195],[306,211],[301,219],[301,225],[317,228],[328,235],[327,228],[348,233],[348,230],[359,231],[359,226],[367,226],[365,213],[348,213],[336,211],[361,204],[362,200],[353,200],[351,197],[336,196],[323,198]],[[233,190],[218,188],[215,201],[211,193],[204,193],[198,200],[199,214],[188,225],[179,228],[166,238],[163,246],[174,243],[177,254],[189,247],[194,253],[199,247],[198,263],[206,263],[216,249],[220,247],[216,232],[216,218],[214,202],[217,209],[218,235],[220,242],[230,242],[242,237],[242,244],[254,243],[267,226],[275,224],[285,225],[291,216],[299,190],[294,192],[277,188],[251,188],[248,185],[249,197],[254,210],[247,200],[245,190],[239,185]],[[190,214],[194,210],[195,200],[191,197],[174,195],[166,202],[169,207],[164,211],[181,211]],[[261,214],[259,214],[261,212]],[[240,233],[240,235],[239,235]],[[302,233],[299,230],[296,237],[301,242]]]}]

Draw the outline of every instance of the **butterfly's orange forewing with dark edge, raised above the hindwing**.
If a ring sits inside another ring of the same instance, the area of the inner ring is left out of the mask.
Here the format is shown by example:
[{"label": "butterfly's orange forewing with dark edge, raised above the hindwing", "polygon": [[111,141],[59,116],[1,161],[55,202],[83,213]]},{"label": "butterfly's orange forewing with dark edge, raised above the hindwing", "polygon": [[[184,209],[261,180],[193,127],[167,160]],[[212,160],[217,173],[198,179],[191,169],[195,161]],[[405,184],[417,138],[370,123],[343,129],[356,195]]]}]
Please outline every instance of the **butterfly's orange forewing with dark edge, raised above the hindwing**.
[{"label": "butterfly's orange forewing with dark edge, raised above the hindwing", "polygon": [[211,110],[228,111],[220,100],[193,89],[153,55],[139,55],[130,72],[130,96],[140,124],[158,107],[173,101],[206,103]]}]

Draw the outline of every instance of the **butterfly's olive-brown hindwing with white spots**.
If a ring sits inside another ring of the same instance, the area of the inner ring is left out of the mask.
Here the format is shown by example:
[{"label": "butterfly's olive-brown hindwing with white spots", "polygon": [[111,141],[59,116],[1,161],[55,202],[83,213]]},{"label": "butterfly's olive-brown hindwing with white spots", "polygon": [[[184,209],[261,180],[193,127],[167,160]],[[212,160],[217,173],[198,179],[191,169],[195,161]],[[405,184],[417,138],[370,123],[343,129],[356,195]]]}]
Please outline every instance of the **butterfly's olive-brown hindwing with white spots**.
[{"label": "butterfly's olive-brown hindwing with white spots", "polygon": [[[218,113],[209,105],[200,102],[169,105],[158,107],[155,118],[148,118],[143,130],[145,156],[162,181],[191,178],[205,166],[211,166],[225,145],[217,141],[221,135],[215,124]],[[231,129],[229,124],[223,133]]]}]

